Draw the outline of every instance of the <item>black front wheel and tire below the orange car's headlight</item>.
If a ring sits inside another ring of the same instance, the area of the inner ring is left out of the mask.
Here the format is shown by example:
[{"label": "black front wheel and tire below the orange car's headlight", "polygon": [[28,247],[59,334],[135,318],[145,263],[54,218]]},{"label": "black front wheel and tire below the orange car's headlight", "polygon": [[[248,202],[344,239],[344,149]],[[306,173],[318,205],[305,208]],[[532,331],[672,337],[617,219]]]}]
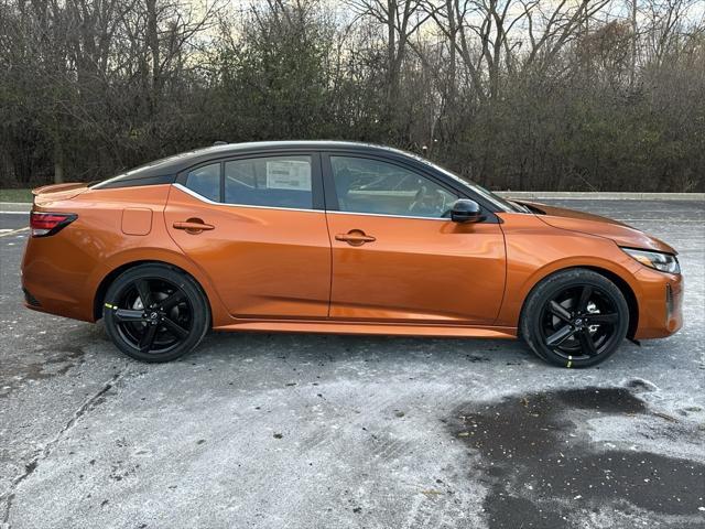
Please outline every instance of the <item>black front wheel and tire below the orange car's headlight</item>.
[{"label": "black front wheel and tire below the orange car's headlight", "polygon": [[609,358],[629,327],[629,306],[606,277],[583,268],[556,272],[529,293],[520,334],[545,361],[589,367]]}]

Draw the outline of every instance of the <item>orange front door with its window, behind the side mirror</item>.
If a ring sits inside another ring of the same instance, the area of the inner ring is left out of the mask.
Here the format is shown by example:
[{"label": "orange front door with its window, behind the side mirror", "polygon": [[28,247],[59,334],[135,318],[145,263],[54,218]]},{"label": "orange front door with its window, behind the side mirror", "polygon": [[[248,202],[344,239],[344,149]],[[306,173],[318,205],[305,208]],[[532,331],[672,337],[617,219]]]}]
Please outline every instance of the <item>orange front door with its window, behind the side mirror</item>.
[{"label": "orange front door with its window, behind the side mirror", "polygon": [[[324,155],[338,210],[326,213],[333,247],[330,317],[491,324],[505,290],[497,223],[445,216],[458,198],[427,175],[380,159]],[[335,204],[330,205],[335,207]]]}]

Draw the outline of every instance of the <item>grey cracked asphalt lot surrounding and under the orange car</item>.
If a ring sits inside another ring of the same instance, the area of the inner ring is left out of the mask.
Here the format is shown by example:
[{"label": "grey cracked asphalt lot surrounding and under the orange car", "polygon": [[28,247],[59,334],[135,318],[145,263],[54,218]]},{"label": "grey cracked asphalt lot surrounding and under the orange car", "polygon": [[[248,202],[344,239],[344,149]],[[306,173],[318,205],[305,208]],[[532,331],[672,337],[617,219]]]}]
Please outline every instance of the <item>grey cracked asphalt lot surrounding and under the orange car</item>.
[{"label": "grey cracked asphalt lot surrounding and under the orange car", "polygon": [[684,328],[586,370],[215,333],[145,365],[22,307],[26,218],[0,215],[0,528],[705,528],[705,205],[551,202],[672,244]]}]

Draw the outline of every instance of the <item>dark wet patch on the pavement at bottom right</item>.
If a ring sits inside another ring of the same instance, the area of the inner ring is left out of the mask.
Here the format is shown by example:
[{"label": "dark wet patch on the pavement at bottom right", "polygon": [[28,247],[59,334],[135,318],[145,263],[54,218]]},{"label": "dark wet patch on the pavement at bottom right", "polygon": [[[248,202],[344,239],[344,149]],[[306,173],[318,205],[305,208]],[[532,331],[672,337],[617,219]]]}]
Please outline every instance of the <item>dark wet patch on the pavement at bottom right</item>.
[{"label": "dark wet patch on the pavement at bottom right", "polygon": [[605,507],[649,511],[683,529],[705,527],[698,510],[705,465],[650,452],[600,450],[583,430],[590,419],[644,414],[659,420],[629,389],[589,387],[462,406],[447,424],[481,456],[490,529],[579,527],[576,509]]}]

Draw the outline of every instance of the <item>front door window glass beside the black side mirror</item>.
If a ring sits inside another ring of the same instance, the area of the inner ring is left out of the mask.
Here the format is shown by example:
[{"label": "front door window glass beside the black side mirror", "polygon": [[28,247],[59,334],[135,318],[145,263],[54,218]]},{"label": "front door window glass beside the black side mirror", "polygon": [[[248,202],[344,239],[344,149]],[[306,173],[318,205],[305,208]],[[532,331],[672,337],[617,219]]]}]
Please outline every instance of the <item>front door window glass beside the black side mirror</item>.
[{"label": "front door window glass beside the black side mirror", "polygon": [[392,163],[330,156],[330,165],[341,212],[440,218],[457,199],[431,180]]}]

